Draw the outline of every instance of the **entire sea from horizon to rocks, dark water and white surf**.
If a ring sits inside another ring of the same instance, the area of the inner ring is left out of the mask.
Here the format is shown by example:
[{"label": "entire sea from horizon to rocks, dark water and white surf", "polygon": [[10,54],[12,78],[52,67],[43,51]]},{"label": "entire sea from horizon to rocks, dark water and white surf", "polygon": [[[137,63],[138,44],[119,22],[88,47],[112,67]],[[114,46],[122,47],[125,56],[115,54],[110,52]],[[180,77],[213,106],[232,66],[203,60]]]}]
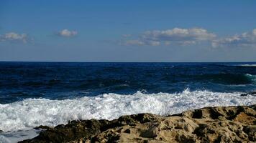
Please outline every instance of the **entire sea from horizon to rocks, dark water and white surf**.
[{"label": "entire sea from horizon to rocks, dark water and white surf", "polygon": [[40,125],[256,104],[256,63],[0,62],[0,142]]}]

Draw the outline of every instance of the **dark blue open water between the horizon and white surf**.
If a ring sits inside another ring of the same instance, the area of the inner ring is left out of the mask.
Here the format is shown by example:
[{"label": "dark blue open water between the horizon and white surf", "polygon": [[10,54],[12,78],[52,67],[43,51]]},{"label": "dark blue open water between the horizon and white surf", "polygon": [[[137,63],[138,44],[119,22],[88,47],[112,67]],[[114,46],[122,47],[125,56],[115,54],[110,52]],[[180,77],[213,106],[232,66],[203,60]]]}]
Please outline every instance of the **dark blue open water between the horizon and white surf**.
[{"label": "dark blue open water between the horizon and white surf", "polygon": [[27,98],[72,99],[103,93],[256,89],[255,63],[0,62],[0,104]]}]

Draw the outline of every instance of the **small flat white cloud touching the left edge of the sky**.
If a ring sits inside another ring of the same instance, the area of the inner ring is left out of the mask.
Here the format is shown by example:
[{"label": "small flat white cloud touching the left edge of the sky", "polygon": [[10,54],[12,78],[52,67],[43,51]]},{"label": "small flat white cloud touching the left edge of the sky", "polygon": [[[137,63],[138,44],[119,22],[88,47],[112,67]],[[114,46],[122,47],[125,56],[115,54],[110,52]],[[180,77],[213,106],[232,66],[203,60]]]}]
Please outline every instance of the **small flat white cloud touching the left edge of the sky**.
[{"label": "small flat white cloud touching the left edge of the sky", "polygon": [[27,34],[9,32],[4,35],[0,35],[0,41],[22,41],[23,43],[27,43]]}]

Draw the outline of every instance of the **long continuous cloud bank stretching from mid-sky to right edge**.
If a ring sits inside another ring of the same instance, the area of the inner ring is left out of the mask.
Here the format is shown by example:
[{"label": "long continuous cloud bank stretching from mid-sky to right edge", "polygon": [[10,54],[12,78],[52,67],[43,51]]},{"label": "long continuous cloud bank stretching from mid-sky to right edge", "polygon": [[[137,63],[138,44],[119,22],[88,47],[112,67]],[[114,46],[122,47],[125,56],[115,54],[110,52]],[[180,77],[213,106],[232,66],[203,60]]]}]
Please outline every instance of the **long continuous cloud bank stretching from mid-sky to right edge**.
[{"label": "long continuous cloud bank stretching from mid-sky to right edge", "polygon": [[206,41],[214,48],[234,48],[234,47],[252,47],[256,48],[256,29],[242,34],[235,34],[234,36],[217,37],[216,34],[207,31],[206,29],[192,28],[192,29],[167,29],[145,31],[135,39],[128,39],[122,41],[123,45],[127,46],[160,46],[162,45],[191,45],[200,44]]}]

